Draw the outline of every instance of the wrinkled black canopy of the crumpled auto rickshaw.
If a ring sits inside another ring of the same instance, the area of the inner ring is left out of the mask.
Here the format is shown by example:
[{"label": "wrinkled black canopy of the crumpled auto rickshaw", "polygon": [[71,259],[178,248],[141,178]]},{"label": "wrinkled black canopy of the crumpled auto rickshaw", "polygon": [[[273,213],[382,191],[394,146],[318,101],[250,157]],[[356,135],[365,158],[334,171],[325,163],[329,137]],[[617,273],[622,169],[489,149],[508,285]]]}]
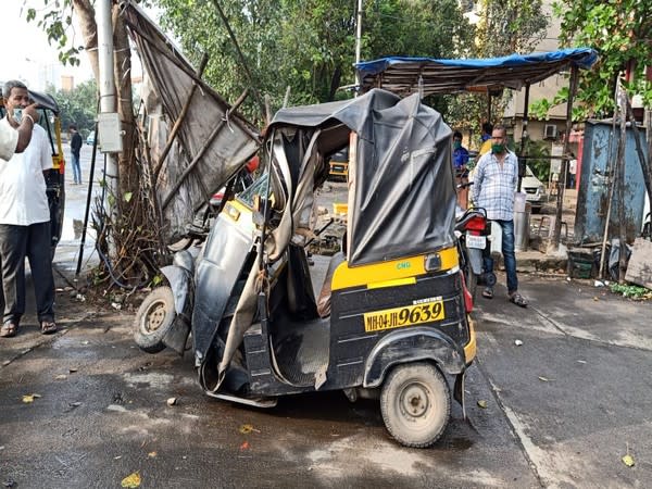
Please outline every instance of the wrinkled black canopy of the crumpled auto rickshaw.
[{"label": "wrinkled black canopy of the crumpled auto rickshaw", "polygon": [[[280,110],[271,129],[331,129],[339,123],[358,134],[349,166],[349,264],[394,260],[454,242],[455,189],[451,129],[418,95],[400,99],[373,89],[340,102]],[[269,130],[272,134],[274,130]],[[339,149],[348,131],[324,130],[316,148]],[[292,168],[303,154],[286,153]],[[315,172],[314,175],[318,175]],[[311,174],[312,175],[312,174]]]}]

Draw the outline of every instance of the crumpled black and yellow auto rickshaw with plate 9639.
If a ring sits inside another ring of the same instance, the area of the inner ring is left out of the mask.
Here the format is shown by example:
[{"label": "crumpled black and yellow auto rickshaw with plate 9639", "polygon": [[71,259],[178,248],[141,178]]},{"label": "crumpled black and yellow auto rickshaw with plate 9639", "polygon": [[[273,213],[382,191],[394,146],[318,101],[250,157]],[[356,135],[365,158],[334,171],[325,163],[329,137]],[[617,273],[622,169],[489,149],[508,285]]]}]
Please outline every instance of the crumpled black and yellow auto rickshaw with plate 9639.
[{"label": "crumpled black and yellow auto rickshaw with plate 9639", "polygon": [[[349,145],[346,247],[329,266],[322,317],[303,247],[329,156]],[[211,397],[268,408],[279,396],[339,389],[379,399],[399,442],[432,444],[451,390],[463,405],[476,351],[450,128],[417,95],[375,89],[280,110],[262,153],[263,176],[225,203],[202,248],[164,268],[171,288],[143,301],[138,343],[183,352],[191,331]]]}]

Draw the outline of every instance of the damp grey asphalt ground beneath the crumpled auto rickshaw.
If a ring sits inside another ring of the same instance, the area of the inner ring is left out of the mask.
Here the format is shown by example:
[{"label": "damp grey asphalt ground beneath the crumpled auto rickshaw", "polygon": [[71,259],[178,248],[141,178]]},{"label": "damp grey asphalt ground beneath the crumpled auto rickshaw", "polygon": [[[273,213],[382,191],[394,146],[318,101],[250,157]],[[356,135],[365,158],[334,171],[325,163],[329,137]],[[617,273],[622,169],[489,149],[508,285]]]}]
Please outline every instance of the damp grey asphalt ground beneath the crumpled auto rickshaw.
[{"label": "damp grey asphalt ground beneath the crumpled auto rickshaw", "polygon": [[[68,187],[78,201],[85,189]],[[652,480],[650,303],[589,281],[522,275],[530,299],[523,310],[500,286],[474,313],[468,421],[453,405],[442,439],[412,450],[389,437],[376,402],[350,403],[340,392],[287,397],[272,410],[205,397],[189,354],[141,352],[128,308],[89,304],[70,289],[66,253],[78,241],[62,244],[61,331],[41,336],[32,313],[16,338],[0,339],[7,487],[121,487],[135,473],[143,488],[619,488]],[[322,269],[326,259],[315,262]]]}]

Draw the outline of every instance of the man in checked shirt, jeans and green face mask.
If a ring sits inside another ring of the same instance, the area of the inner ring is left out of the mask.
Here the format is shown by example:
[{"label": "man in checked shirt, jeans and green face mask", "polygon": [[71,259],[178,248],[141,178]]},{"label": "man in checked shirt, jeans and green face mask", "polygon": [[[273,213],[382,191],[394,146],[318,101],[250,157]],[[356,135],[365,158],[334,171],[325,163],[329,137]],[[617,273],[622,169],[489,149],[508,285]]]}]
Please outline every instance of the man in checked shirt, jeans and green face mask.
[{"label": "man in checked shirt, jeans and green face mask", "polygon": [[[516,277],[516,255],[514,254],[514,191],[518,181],[518,160],[507,150],[507,134],[502,125],[491,133],[491,151],[485,153],[476,165],[474,175],[473,201],[487,211],[487,218],[498,223],[502,229],[502,254],[507,275],[510,302],[522,308],[527,300],[518,293]],[[493,272],[490,247],[484,251],[485,273]],[[485,288],[482,297],[493,298],[493,289]]]}]

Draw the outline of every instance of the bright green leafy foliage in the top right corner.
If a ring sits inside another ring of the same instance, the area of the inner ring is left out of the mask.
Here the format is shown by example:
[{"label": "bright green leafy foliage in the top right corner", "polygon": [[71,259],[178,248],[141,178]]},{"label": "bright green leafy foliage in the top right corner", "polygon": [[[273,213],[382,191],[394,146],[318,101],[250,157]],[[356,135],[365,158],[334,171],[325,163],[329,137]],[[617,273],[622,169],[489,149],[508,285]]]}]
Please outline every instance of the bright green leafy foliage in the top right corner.
[{"label": "bright green leafy foliage in the top right corner", "polygon": [[[575,121],[605,117],[613,113],[616,79],[627,67],[638,76],[627,86],[630,96],[643,96],[652,106],[652,84],[642,76],[652,59],[652,2],[650,0],[559,0],[555,15],[562,20],[563,46],[591,47],[600,60],[590,71],[581,71],[574,104]],[[559,96],[567,100],[566,95]],[[549,105],[550,106],[550,105]],[[540,115],[543,105],[535,108]]]}]

